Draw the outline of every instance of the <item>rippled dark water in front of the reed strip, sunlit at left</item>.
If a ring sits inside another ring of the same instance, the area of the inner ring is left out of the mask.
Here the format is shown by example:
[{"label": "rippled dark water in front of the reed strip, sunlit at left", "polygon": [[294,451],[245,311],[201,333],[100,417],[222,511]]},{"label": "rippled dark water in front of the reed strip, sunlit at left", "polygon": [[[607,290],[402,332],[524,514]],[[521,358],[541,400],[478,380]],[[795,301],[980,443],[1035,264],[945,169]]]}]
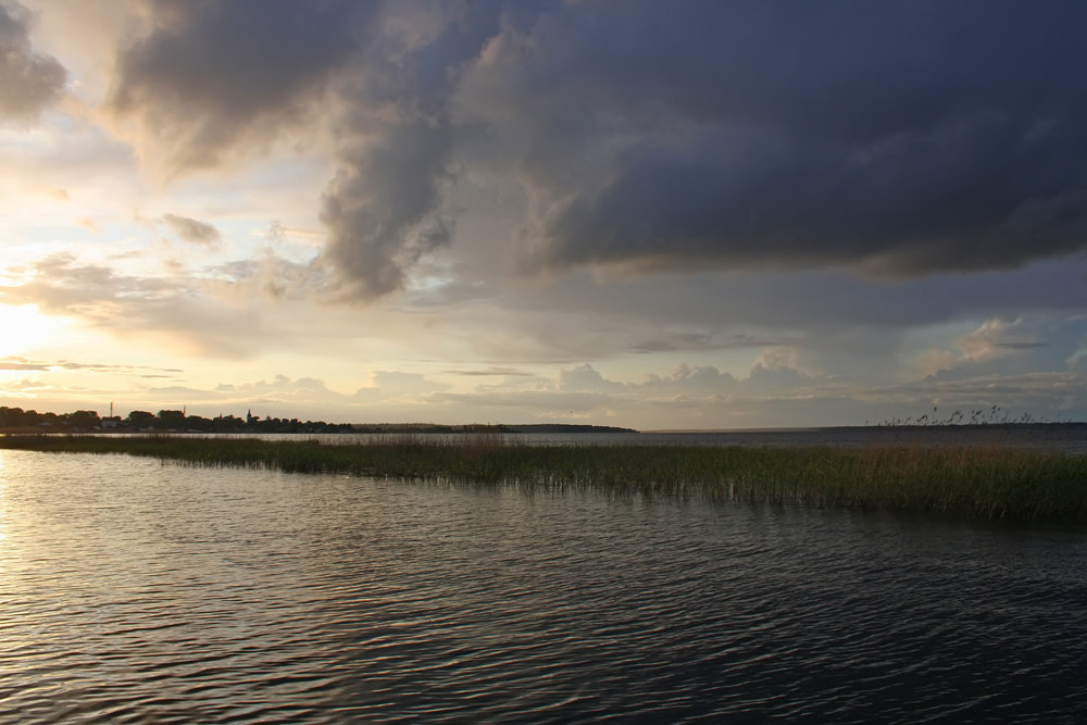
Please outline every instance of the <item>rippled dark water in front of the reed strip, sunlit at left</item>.
[{"label": "rippled dark water in front of the reed strip, sunlit at left", "polygon": [[1082,722],[1087,533],[0,451],[0,721]]}]

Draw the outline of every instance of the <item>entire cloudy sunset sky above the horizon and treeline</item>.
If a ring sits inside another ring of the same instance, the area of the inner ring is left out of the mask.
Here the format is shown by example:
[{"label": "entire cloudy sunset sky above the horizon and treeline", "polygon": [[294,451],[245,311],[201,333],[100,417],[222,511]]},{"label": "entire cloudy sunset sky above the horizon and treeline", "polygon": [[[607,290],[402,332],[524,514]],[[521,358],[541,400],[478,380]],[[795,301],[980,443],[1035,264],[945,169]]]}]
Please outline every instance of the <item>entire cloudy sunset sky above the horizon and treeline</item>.
[{"label": "entire cloudy sunset sky above the horizon and treeline", "polygon": [[1087,420],[1085,35],[1057,1],[0,0],[0,405]]}]

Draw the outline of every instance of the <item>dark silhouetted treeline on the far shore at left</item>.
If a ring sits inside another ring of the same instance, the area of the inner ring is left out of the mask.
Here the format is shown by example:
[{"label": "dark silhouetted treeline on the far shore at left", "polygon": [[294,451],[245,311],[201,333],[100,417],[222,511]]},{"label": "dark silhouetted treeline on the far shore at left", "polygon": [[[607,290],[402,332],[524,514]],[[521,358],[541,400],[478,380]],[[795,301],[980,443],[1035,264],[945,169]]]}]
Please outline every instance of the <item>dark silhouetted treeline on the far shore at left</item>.
[{"label": "dark silhouetted treeline on the far shore at left", "polygon": [[133,411],[127,416],[101,417],[96,411],[39,413],[22,408],[0,407],[0,433],[637,433],[630,428],[601,425],[441,425],[436,423],[326,423],[297,417],[245,417],[217,415],[213,418],[187,415],[185,411],[158,413]]}]

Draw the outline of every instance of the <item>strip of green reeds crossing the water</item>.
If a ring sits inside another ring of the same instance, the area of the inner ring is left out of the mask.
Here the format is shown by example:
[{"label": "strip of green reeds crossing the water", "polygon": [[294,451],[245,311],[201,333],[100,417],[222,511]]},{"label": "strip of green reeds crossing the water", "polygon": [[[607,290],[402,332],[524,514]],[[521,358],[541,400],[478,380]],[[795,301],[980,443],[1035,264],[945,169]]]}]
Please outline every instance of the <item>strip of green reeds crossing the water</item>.
[{"label": "strip of green reeds crossing the water", "polygon": [[0,448],[1087,524],[1087,457],[1014,449],[553,447],[496,438],[340,446],[128,436],[8,436]]}]

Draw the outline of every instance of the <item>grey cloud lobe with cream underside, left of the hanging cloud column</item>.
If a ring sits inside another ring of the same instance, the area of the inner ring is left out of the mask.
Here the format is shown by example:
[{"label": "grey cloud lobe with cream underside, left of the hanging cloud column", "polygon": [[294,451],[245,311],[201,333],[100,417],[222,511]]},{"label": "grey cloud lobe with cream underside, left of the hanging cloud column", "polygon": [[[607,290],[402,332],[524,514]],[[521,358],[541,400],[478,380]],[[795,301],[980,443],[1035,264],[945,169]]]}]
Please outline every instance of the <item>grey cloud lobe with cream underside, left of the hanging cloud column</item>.
[{"label": "grey cloud lobe with cream underside, left of the hanging cloud column", "polygon": [[221,164],[303,122],[377,8],[353,0],[145,0],[108,108],[137,118],[174,171]]}]

